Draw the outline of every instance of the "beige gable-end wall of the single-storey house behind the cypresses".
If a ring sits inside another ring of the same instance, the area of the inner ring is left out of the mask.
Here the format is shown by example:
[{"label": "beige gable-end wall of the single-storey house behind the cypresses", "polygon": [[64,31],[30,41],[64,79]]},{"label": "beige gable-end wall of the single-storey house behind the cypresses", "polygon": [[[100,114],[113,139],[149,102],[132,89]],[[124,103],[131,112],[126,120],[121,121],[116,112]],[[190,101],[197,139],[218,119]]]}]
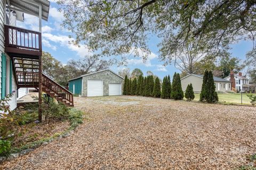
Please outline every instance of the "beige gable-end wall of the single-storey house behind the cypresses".
[{"label": "beige gable-end wall of the single-storey house behind the cypresses", "polygon": [[186,91],[188,84],[192,83],[194,92],[200,92],[202,89],[203,79],[195,75],[189,75],[181,80],[181,87],[183,91]]}]

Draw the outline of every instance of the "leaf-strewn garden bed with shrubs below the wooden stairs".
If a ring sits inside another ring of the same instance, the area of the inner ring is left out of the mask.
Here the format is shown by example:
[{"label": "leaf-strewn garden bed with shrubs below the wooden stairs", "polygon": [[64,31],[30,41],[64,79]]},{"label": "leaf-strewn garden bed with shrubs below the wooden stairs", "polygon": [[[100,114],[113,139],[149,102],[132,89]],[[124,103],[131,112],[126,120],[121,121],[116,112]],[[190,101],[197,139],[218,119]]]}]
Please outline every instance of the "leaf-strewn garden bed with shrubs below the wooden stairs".
[{"label": "leaf-strewn garden bed with shrubs below the wooden stairs", "polygon": [[38,123],[38,104],[30,104],[11,111],[9,106],[5,105],[10,97],[11,95],[0,100],[0,156],[19,150],[14,147],[28,148],[25,145],[31,142],[38,143],[37,140],[42,144],[43,139],[49,138],[49,135],[57,131],[66,131],[67,127],[68,130],[75,129],[83,122],[83,112],[43,97],[43,122]]}]

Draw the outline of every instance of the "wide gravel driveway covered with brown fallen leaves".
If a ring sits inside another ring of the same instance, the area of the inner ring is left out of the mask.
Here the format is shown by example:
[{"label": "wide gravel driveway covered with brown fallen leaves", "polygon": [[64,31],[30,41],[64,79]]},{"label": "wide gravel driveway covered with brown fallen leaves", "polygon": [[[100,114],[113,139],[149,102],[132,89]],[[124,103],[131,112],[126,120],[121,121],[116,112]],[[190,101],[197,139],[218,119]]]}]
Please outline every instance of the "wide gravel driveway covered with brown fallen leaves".
[{"label": "wide gravel driveway covered with brown fallen leaves", "polygon": [[0,169],[234,169],[256,152],[256,107],[75,98],[88,120]]}]

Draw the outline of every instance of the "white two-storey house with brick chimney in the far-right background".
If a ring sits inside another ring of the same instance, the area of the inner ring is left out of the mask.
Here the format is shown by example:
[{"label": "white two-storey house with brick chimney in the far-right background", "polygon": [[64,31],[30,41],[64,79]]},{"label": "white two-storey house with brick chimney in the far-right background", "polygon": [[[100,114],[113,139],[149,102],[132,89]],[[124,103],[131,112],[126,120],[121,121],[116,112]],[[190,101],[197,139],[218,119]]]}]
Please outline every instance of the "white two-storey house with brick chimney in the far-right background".
[{"label": "white two-storey house with brick chimney in the far-right background", "polygon": [[252,91],[255,92],[255,85],[249,83],[249,79],[244,77],[241,72],[235,74],[234,71],[230,71],[230,75],[225,78],[232,82],[232,87],[236,91]]}]

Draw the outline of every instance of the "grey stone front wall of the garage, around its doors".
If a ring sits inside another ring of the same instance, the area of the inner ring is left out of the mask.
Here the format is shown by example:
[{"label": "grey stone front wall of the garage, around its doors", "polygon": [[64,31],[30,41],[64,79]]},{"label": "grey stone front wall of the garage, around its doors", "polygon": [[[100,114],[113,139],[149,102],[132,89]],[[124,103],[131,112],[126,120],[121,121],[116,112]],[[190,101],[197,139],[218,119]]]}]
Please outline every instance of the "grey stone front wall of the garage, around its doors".
[{"label": "grey stone front wall of the garage, around its doors", "polygon": [[85,75],[83,77],[83,97],[87,97],[87,80],[102,80],[103,96],[109,95],[109,83],[121,83],[123,87],[123,79],[109,70],[98,72],[95,74]]}]

